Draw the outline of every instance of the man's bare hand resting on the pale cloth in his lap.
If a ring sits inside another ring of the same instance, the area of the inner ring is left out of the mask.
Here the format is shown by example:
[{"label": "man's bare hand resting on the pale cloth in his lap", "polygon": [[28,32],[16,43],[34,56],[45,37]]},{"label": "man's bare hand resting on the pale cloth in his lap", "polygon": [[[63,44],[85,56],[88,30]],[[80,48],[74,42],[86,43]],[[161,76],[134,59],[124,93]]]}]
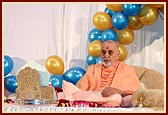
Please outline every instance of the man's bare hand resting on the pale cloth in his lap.
[{"label": "man's bare hand resting on the pale cloth in his lap", "polygon": [[109,97],[113,94],[122,94],[122,91],[116,88],[106,87],[101,94],[103,97]]}]

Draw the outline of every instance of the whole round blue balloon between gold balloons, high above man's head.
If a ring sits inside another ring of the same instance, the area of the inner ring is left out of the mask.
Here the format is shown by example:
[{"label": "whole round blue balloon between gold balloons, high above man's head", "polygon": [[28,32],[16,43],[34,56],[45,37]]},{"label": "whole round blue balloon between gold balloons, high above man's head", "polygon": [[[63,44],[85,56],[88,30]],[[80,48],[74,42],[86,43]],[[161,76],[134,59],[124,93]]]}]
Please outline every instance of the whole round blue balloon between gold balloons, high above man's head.
[{"label": "whole round blue balloon between gold balloons, high above man's head", "polygon": [[128,16],[122,12],[115,12],[112,17],[112,25],[118,30],[122,30],[128,26]]}]

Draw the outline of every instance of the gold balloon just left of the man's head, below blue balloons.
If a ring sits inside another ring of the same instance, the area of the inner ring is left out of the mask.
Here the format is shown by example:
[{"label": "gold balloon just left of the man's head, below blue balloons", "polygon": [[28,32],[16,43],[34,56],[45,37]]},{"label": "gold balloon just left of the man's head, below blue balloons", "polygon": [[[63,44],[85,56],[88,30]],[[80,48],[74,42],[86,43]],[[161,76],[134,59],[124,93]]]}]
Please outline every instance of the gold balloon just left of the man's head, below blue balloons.
[{"label": "gold balloon just left of the man's head, below blue balloons", "polygon": [[95,40],[89,44],[88,53],[93,57],[100,56],[102,42],[100,40]]}]

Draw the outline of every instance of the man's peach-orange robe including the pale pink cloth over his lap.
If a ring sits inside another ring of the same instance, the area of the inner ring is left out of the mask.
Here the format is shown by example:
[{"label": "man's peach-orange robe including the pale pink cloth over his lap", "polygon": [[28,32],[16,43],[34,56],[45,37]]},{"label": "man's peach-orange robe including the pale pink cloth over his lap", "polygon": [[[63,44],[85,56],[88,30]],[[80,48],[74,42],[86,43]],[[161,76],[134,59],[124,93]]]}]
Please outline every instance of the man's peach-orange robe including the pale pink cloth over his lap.
[{"label": "man's peach-orange robe including the pale pink cloth over his lap", "polygon": [[114,94],[109,97],[102,97],[101,91],[111,86],[132,94],[140,87],[140,82],[131,66],[117,61],[109,68],[105,68],[102,64],[90,66],[76,86],[64,80],[62,84],[63,94],[60,93],[59,95],[62,96],[59,96],[58,99],[107,103],[111,101],[112,103],[108,104],[119,106],[122,101],[121,95]]}]

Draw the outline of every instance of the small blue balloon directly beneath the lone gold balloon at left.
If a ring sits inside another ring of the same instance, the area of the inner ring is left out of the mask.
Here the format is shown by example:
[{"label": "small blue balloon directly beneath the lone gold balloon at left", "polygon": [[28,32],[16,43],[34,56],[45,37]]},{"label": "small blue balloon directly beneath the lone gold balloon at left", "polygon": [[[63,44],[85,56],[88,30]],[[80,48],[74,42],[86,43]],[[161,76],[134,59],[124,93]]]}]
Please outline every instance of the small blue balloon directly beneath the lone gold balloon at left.
[{"label": "small blue balloon directly beneath the lone gold balloon at left", "polygon": [[51,84],[53,87],[62,88],[63,80],[63,75],[54,74],[50,77],[49,84]]}]

